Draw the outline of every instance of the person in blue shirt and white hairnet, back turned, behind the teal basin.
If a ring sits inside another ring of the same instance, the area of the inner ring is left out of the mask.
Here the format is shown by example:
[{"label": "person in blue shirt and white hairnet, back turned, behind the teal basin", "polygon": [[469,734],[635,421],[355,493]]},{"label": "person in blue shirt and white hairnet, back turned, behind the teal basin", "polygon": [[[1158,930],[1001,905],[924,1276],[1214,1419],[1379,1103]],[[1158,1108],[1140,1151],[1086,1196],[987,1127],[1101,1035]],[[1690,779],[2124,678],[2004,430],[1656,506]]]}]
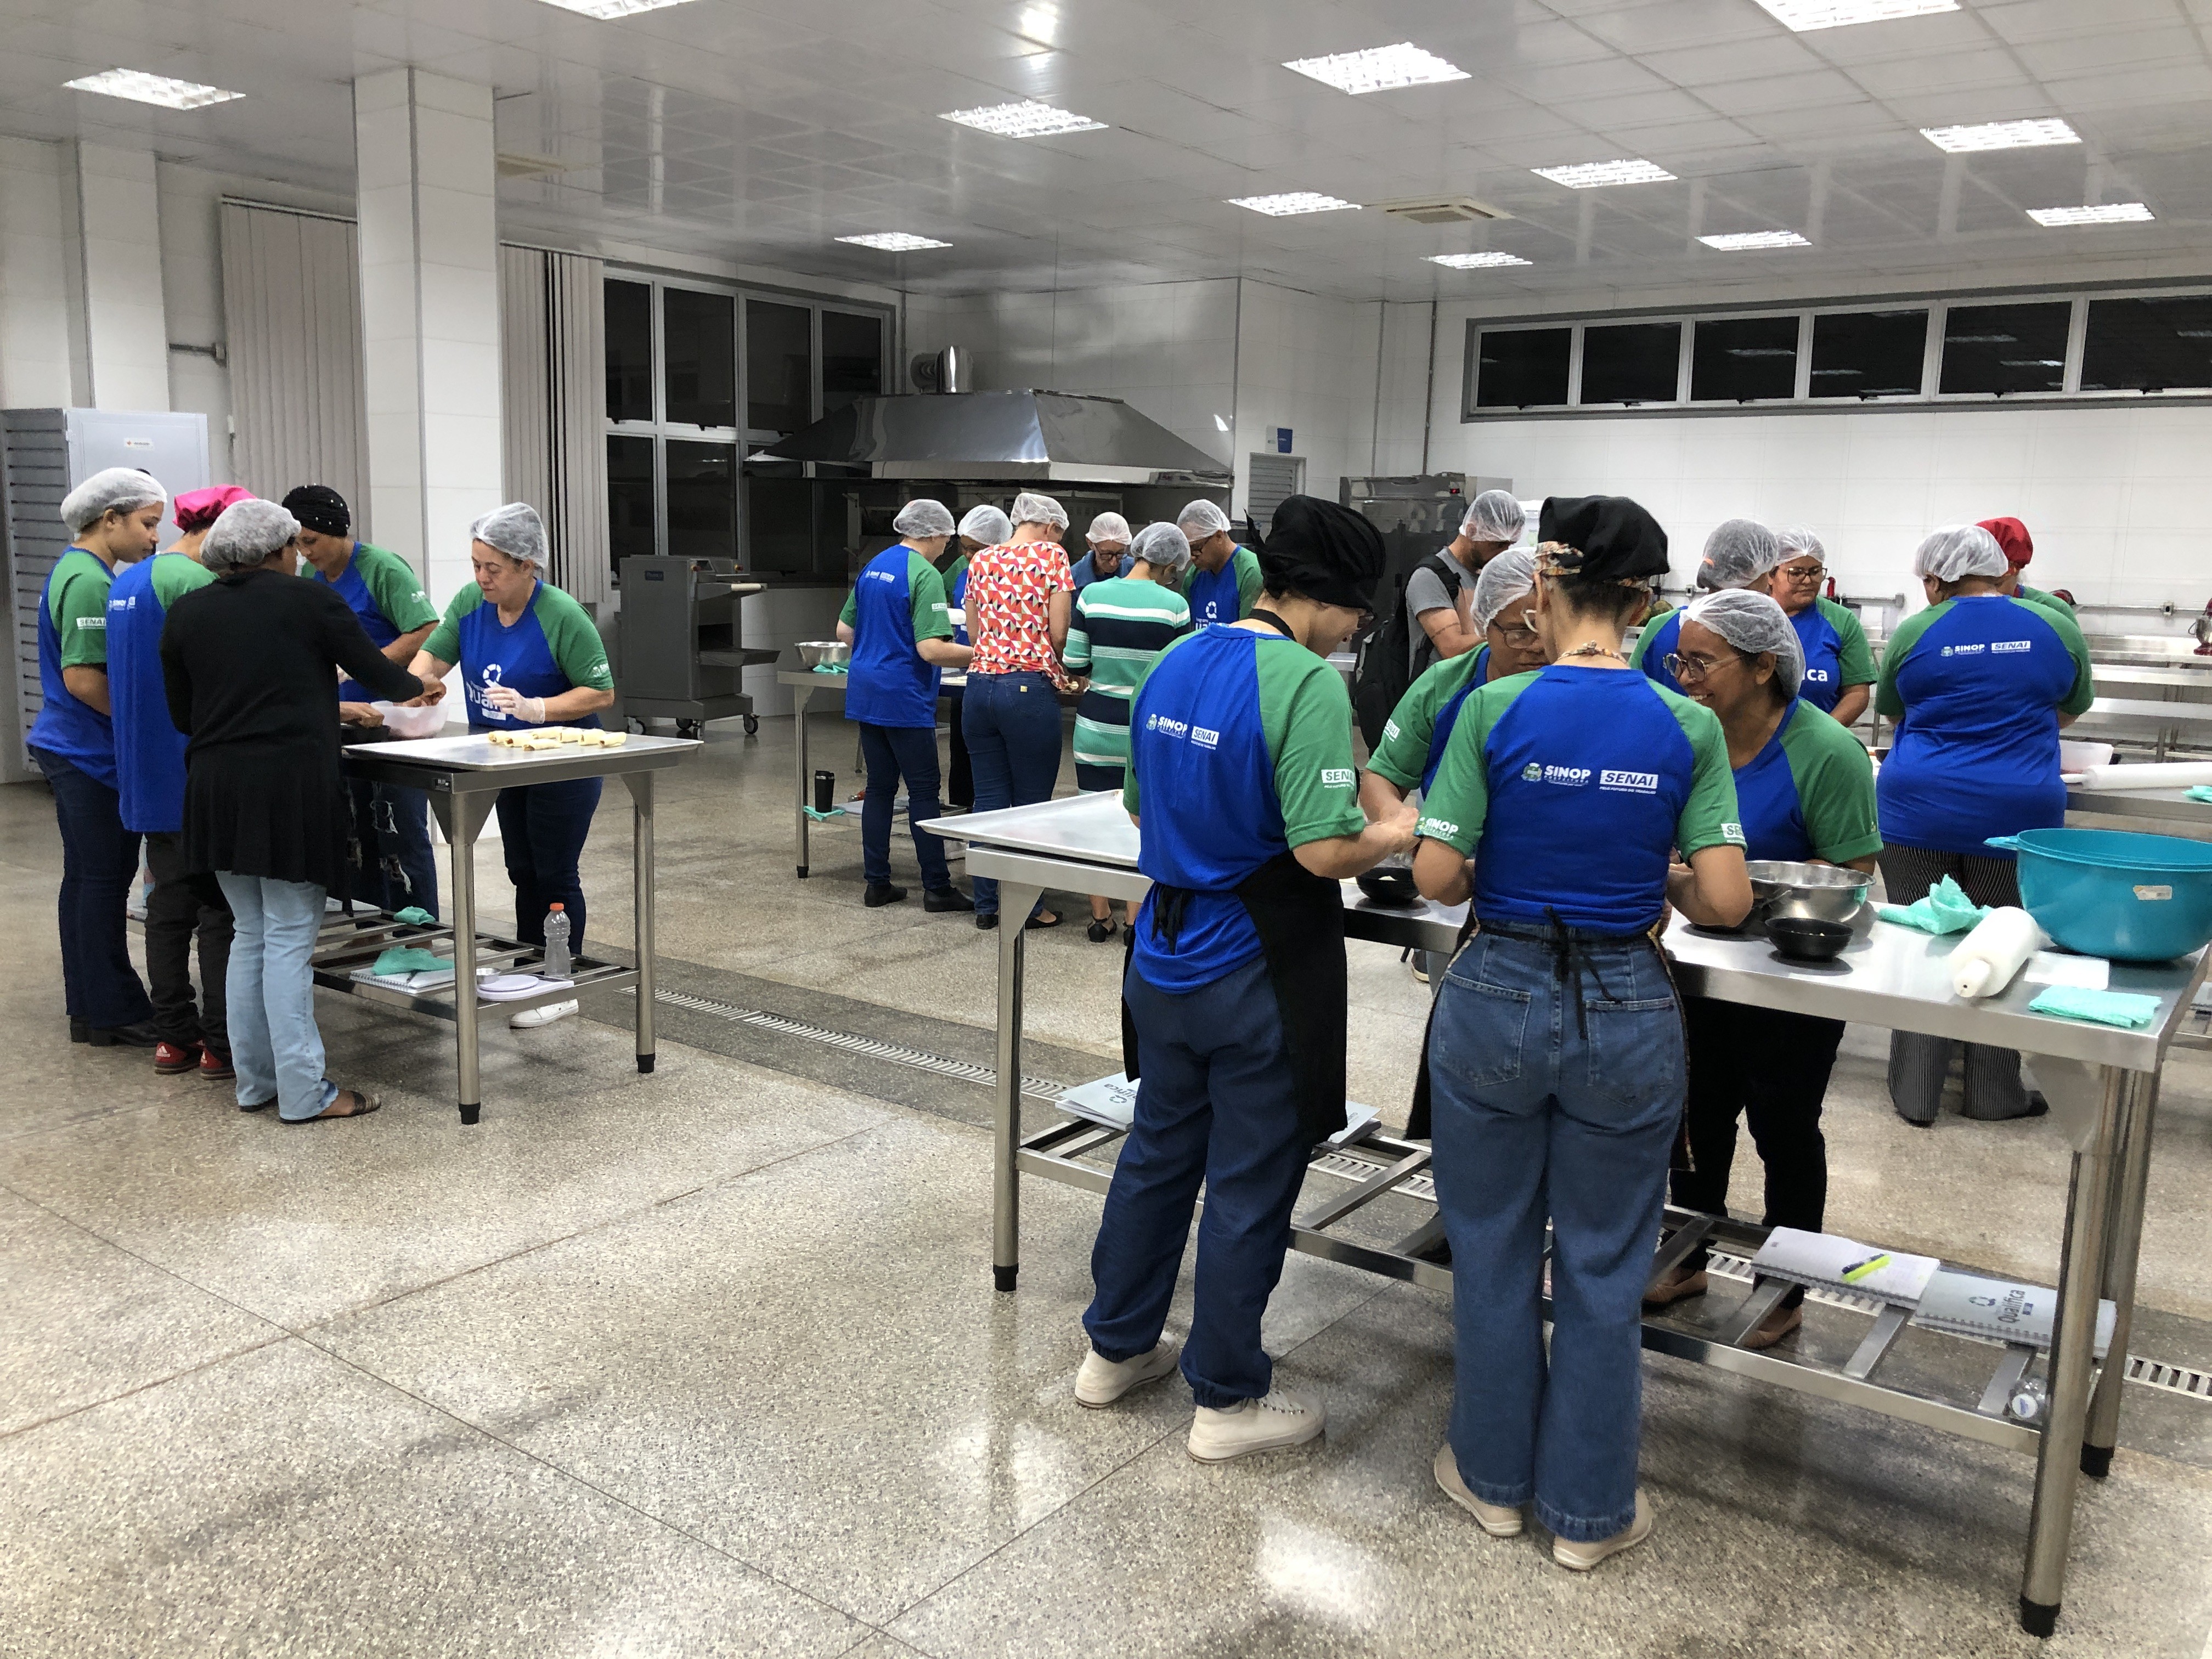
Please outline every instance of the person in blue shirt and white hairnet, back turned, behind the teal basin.
[{"label": "person in blue shirt and white hairnet, back turned, behind the teal basin", "polygon": [[[1913,555],[1929,608],[1889,635],[1874,695],[1876,712],[1898,723],[1876,783],[1891,905],[1944,876],[1975,905],[2017,905],[2017,860],[1989,838],[2066,823],[2059,730],[2097,697],[2088,646],[2064,611],[2006,595],[2011,568],[1980,524],[1940,529]],[[1936,1121],[1955,1051],[1949,1037],[1891,1033],[1898,1117]],[[1966,1044],[1966,1117],[2044,1110],[2020,1084],[2017,1051]]]}]

